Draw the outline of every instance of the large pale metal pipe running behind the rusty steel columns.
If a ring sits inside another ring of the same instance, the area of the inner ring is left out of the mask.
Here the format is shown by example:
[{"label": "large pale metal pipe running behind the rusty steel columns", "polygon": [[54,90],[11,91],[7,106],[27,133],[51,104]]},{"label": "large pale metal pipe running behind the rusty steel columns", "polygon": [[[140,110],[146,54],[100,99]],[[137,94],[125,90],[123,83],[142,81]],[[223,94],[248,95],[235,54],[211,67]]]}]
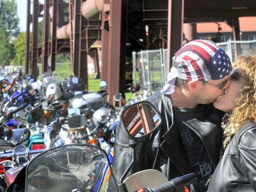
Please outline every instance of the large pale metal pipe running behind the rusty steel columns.
[{"label": "large pale metal pipe running behind the rusty steel columns", "polygon": [[[52,10],[52,7],[51,7]],[[103,10],[103,0],[87,0],[85,1],[81,6],[81,12],[82,15],[86,19],[90,19],[93,16],[95,16],[97,13],[101,12]],[[52,11],[51,15],[52,17]],[[71,23],[60,27],[56,31],[56,37],[58,39],[68,39],[71,35]]]}]

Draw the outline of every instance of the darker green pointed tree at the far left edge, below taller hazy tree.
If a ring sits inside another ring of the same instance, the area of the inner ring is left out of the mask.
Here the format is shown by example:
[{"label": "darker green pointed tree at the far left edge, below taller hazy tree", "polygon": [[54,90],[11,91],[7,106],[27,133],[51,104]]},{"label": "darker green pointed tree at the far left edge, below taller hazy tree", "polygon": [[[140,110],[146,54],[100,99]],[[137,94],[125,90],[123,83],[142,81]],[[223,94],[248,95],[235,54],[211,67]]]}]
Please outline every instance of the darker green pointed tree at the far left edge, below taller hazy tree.
[{"label": "darker green pointed tree at the far left edge, below taller hazy tree", "polygon": [[8,34],[6,29],[0,27],[0,65],[10,65],[12,56],[12,44],[9,43]]}]

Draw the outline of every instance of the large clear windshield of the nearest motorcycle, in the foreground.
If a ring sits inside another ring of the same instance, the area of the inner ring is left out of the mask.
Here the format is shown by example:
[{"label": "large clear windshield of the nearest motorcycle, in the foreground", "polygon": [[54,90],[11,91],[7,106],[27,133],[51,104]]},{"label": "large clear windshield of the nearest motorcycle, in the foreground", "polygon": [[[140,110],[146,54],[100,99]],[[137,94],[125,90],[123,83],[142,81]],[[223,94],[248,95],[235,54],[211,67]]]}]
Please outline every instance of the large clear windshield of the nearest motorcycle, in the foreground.
[{"label": "large clear windshield of the nearest motorcycle, in the foreground", "polygon": [[[107,154],[85,144],[52,148],[30,161],[26,192],[103,192],[108,189]],[[76,190],[75,190],[76,189]]]}]

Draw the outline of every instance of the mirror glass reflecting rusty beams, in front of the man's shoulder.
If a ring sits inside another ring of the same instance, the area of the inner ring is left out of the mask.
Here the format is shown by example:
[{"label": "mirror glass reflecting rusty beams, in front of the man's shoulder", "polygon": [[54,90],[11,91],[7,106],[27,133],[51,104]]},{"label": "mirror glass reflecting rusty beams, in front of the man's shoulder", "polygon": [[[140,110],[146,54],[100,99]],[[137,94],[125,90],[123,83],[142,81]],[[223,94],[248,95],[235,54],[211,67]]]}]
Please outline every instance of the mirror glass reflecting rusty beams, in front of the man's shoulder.
[{"label": "mirror glass reflecting rusty beams, in front of the man's shoulder", "polygon": [[141,103],[124,109],[122,119],[133,137],[142,137],[150,133],[160,123],[160,117],[147,103]]}]

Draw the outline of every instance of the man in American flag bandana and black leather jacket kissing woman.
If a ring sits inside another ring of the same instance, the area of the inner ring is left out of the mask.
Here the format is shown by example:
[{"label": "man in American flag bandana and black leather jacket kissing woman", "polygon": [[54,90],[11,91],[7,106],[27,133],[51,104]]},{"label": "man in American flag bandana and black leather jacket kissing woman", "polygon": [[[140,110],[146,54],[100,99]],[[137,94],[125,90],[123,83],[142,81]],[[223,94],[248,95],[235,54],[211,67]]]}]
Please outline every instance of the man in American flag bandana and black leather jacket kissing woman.
[{"label": "man in American flag bandana and black leather jacket kissing woman", "polygon": [[[193,40],[172,58],[168,81],[147,98],[162,116],[158,131],[140,142],[135,164],[127,176],[146,170],[161,171],[168,180],[195,172],[190,191],[206,191],[205,183],[219,162],[220,122],[223,116],[212,103],[230,84],[232,66],[225,51],[209,40]],[[131,163],[132,149],[122,124],[116,129],[113,174],[121,178]],[[116,191],[110,177],[108,191]]]}]

